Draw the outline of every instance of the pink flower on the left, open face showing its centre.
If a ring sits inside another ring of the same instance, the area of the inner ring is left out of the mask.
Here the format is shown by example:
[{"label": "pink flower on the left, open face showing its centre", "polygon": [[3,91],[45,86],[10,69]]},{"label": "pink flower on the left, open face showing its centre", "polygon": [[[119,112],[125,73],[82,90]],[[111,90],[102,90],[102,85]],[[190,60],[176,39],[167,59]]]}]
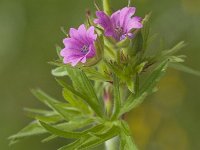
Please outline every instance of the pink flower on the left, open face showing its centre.
[{"label": "pink flower on the left, open face showing its centre", "polygon": [[71,28],[69,34],[70,37],[63,40],[65,48],[60,52],[60,55],[64,57],[65,64],[70,63],[72,66],[76,66],[79,62],[85,63],[88,58],[95,56],[94,43],[97,35],[94,33],[93,26],[87,30],[82,24],[78,30]]}]

